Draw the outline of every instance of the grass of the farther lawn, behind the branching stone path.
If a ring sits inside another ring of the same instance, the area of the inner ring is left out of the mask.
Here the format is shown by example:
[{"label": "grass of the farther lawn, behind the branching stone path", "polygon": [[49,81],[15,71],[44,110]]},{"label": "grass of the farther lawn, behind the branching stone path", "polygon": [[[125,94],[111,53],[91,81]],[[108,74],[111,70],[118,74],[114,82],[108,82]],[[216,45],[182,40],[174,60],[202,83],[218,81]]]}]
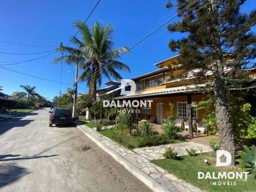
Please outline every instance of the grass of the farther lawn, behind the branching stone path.
[{"label": "grass of the farther lawn, behind the branching stone path", "polygon": [[114,140],[122,146],[130,149],[144,147],[144,146],[158,146],[167,143],[181,142],[181,140],[167,139],[162,137],[163,135],[155,135],[155,139],[152,141],[143,141],[140,136],[129,135],[128,129],[105,129],[98,131],[102,135]]}]

